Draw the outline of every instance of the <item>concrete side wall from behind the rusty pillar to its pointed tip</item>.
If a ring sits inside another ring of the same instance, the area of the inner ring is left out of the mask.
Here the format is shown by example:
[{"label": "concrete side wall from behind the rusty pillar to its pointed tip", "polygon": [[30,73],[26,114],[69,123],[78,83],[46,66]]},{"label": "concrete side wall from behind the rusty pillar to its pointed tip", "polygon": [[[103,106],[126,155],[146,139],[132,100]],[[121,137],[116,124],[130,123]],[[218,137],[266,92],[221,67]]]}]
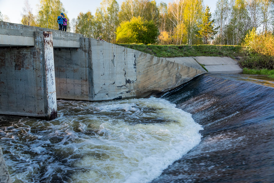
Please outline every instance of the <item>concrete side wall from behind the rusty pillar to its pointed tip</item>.
[{"label": "concrete side wall from behind the rusty pillar to its pointed tip", "polygon": [[54,65],[57,98],[88,101],[146,97],[205,72],[92,38],[55,49]]}]

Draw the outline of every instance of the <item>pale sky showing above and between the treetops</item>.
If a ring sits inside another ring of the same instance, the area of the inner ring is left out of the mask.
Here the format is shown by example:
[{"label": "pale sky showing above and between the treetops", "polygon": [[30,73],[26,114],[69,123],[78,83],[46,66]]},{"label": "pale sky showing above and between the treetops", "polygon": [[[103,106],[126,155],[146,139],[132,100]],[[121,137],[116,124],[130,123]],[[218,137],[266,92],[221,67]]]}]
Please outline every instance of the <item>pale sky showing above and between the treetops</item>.
[{"label": "pale sky showing above and between the treetops", "polygon": [[[60,0],[65,10],[68,11],[67,17],[71,20],[72,18],[77,18],[80,12],[86,13],[87,11],[91,11],[92,14],[96,12],[96,9],[100,7],[100,3],[102,0]],[[116,0],[119,5],[124,0]],[[7,15],[10,19],[11,23],[20,23],[23,13],[25,0],[0,0],[0,11],[2,15]],[[173,2],[173,0],[156,0],[157,5],[160,2]],[[214,12],[217,0],[204,0],[204,5],[208,5],[210,7],[210,11]],[[37,15],[38,12],[38,4],[40,4],[40,0],[29,0],[29,4],[32,7],[33,15]]]}]

